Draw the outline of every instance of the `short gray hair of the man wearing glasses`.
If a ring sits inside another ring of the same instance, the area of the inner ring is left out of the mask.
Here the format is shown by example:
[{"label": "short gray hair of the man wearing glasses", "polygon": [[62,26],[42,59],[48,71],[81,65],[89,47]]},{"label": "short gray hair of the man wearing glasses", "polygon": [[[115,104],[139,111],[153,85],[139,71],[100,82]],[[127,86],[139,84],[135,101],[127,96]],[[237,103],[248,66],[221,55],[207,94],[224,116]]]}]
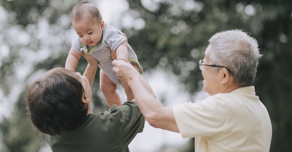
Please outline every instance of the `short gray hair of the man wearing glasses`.
[{"label": "short gray hair of the man wearing glasses", "polygon": [[[233,72],[234,81],[241,87],[252,86],[259,63],[259,45],[255,38],[242,30],[216,33],[209,40],[211,64],[221,65]],[[213,68],[218,69],[218,68]]]}]

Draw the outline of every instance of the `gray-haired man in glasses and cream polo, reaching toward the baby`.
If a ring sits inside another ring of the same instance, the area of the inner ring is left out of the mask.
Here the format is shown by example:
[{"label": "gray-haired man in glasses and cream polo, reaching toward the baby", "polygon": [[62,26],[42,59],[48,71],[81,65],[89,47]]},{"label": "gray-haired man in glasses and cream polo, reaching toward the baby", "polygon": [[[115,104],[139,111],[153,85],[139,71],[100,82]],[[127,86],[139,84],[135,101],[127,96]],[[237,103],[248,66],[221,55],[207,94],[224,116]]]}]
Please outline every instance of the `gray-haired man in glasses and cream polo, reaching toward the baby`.
[{"label": "gray-haired man in glasses and cream polo, reaching toward the baby", "polygon": [[113,70],[129,84],[150,125],[195,137],[195,151],[268,152],[272,125],[266,107],[255,95],[259,54],[257,41],[241,30],[224,31],[209,40],[199,68],[204,91],[196,103],[164,107],[145,79],[123,61]]}]

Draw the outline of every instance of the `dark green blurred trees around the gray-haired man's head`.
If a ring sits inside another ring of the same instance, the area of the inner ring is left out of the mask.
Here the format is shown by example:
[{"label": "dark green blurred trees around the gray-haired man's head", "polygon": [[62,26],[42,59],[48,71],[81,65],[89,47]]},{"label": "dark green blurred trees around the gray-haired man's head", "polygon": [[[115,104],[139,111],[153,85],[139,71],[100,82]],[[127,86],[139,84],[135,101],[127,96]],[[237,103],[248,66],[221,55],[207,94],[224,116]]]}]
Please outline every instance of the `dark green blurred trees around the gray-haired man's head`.
[{"label": "dark green blurred trees around the gray-haired man's head", "polygon": [[145,20],[144,29],[126,33],[142,65],[173,71],[191,94],[202,88],[197,63],[211,35],[236,28],[256,38],[263,57],[254,85],[272,121],[270,151],[292,149],[292,1],[128,1]]}]

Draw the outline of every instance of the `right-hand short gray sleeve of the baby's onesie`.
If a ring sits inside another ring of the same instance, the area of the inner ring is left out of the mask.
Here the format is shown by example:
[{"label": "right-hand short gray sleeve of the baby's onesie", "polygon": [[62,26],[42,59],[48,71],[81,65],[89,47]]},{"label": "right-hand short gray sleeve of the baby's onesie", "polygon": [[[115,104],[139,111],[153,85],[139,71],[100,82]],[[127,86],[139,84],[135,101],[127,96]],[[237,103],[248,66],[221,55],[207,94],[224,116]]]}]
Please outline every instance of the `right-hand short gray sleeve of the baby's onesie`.
[{"label": "right-hand short gray sleeve of the baby's onesie", "polygon": [[108,29],[103,34],[105,45],[108,45],[113,51],[116,51],[116,48],[125,40],[126,38],[116,29]]}]

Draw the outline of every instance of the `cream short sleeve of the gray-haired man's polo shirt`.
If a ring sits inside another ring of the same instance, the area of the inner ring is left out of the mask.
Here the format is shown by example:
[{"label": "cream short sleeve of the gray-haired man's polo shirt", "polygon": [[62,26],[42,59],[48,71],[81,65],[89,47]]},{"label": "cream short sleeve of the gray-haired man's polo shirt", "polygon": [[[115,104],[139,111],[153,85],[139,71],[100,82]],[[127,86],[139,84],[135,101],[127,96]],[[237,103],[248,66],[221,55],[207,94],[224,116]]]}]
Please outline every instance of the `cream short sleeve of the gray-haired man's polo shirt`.
[{"label": "cream short sleeve of the gray-haired man's polo shirt", "polygon": [[221,135],[227,125],[227,105],[212,97],[196,103],[173,106],[173,113],[183,138]]}]

